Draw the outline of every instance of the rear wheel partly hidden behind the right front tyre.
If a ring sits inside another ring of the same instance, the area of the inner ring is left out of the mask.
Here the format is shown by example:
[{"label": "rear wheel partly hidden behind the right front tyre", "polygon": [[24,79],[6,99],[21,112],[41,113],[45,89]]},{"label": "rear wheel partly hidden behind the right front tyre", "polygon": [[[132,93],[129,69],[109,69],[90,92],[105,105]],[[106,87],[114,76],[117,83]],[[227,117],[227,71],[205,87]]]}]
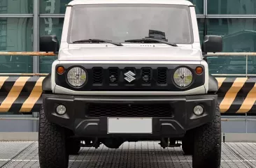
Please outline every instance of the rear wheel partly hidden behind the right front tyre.
[{"label": "rear wheel partly hidden behind the right front tyre", "polygon": [[183,153],[192,155],[194,152],[194,135],[192,130],[188,130],[182,140]]}]

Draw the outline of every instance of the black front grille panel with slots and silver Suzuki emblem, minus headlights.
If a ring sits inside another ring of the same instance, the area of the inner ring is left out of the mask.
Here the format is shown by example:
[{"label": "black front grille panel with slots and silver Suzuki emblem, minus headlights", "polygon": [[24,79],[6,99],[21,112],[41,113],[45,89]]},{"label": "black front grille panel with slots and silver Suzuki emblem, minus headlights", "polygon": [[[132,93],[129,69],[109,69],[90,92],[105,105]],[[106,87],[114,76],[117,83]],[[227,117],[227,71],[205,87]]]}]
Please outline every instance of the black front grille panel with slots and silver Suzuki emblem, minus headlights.
[{"label": "black front grille panel with slots and silver Suzuki emblem, minus headlights", "polygon": [[174,70],[184,65],[81,63],[80,66],[87,72],[87,81],[81,87],[73,87],[66,81],[66,75],[70,68],[77,65],[65,63],[58,66],[63,66],[66,71],[63,75],[55,74],[56,84],[73,91],[187,91],[205,83],[205,71],[202,75],[194,72],[201,65],[187,66],[193,73],[193,82],[189,87],[180,88],[173,83],[172,77]]}]

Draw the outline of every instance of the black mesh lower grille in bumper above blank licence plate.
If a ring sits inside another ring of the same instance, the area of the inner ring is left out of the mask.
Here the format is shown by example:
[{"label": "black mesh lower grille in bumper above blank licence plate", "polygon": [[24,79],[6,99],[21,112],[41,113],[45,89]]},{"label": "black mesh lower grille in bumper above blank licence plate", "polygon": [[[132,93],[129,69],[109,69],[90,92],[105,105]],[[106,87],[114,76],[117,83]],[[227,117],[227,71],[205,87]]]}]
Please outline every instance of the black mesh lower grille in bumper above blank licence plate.
[{"label": "black mesh lower grille in bumper above blank licence plate", "polygon": [[86,116],[101,117],[171,117],[169,104],[89,104]]}]

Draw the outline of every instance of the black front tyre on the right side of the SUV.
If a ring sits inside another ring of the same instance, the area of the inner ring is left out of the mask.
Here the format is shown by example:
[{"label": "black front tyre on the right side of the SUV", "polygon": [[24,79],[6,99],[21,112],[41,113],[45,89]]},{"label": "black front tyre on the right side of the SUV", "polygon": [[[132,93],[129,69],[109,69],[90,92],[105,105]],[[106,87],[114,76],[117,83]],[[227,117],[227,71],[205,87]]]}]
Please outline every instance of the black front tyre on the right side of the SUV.
[{"label": "black front tyre on the right side of the SUV", "polygon": [[217,105],[215,118],[194,132],[194,168],[219,168],[221,157],[220,107]]}]

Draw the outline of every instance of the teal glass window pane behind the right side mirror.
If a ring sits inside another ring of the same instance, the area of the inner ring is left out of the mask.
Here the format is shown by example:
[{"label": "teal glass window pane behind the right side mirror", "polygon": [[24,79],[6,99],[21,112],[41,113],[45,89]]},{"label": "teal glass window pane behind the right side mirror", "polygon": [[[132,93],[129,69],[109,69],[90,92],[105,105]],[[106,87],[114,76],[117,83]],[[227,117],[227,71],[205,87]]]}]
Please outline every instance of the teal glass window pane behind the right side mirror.
[{"label": "teal glass window pane behind the right side mirror", "polygon": [[209,19],[208,34],[223,37],[223,52],[255,52],[255,19]]}]

